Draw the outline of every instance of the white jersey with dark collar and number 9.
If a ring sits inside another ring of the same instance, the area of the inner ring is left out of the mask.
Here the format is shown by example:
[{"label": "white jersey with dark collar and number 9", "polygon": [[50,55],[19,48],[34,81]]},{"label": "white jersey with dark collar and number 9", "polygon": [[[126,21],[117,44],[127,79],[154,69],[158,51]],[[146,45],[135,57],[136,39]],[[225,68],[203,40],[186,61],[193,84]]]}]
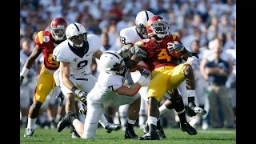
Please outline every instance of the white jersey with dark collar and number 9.
[{"label": "white jersey with dark collar and number 9", "polygon": [[94,52],[100,50],[102,43],[94,34],[87,34],[87,42],[83,48],[75,49],[68,40],[54,48],[54,59],[58,62],[70,63],[70,74],[90,74],[90,64]]}]

